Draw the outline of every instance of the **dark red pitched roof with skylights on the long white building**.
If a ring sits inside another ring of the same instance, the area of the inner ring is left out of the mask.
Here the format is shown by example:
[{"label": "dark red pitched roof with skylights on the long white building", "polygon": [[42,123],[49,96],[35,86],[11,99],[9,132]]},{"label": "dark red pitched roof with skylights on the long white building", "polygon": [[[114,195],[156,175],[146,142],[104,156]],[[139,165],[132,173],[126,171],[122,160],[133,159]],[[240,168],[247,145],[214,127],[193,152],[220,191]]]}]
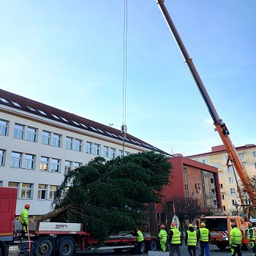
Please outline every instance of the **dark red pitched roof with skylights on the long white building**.
[{"label": "dark red pitched roof with skylights on the long white building", "polygon": [[[33,99],[28,99],[22,97],[18,94],[13,94],[9,91],[4,91],[0,89],[0,105],[6,105],[10,108],[16,108],[18,110],[23,110],[27,113],[31,113],[37,116],[42,116],[44,118],[49,118],[51,120],[60,122],[62,124],[69,124],[72,127],[79,127],[80,129],[85,129],[89,132],[97,133],[112,139],[124,140],[123,135],[120,130],[113,127],[109,127],[105,124],[99,124],[96,121],[77,116],[75,114],[60,110],[58,108],[53,108],[49,105],[45,105],[41,102],[34,101]],[[140,140],[132,135],[127,134],[125,142],[146,148],[147,150],[157,151],[159,153],[171,156],[170,154],[156,148],[143,140]]]}]

